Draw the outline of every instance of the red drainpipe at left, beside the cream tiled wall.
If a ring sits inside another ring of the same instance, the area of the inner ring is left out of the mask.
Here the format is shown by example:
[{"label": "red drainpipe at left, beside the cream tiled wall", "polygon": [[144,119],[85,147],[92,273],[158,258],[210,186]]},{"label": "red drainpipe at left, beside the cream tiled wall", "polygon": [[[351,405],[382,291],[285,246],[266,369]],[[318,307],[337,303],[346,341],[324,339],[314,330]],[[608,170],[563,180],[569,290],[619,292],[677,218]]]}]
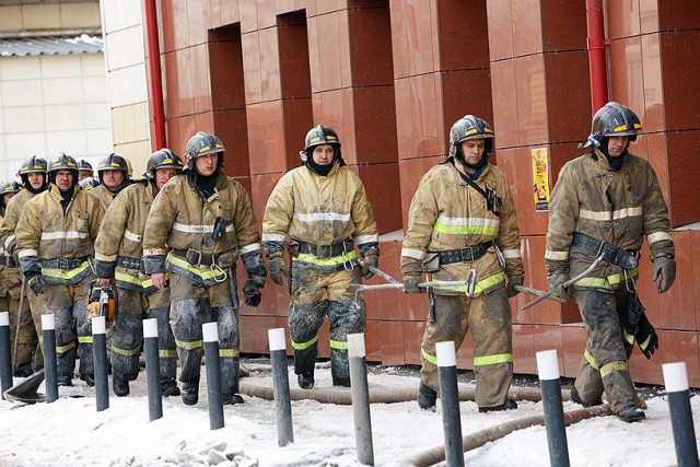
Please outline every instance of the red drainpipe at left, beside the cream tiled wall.
[{"label": "red drainpipe at left, beside the cream tiled wall", "polygon": [[163,105],[163,80],[161,79],[161,47],[158,39],[158,13],[155,0],[144,0],[145,32],[149,47],[149,70],[151,72],[151,101],[153,119],[153,150],[167,148],[165,139],[165,110]]}]

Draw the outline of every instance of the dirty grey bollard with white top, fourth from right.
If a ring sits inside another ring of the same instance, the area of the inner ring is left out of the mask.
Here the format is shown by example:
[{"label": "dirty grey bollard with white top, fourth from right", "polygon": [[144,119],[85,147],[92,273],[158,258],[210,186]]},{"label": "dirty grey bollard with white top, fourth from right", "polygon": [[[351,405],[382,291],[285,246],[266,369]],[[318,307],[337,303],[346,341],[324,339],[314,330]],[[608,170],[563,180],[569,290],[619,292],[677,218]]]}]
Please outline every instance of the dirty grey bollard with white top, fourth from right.
[{"label": "dirty grey bollard with white top, fourth from right", "polygon": [[372,419],[370,417],[370,388],[368,386],[368,362],[364,351],[364,334],[348,335],[348,360],[352,390],[352,418],[354,420],[354,444],[358,460],[374,465],[372,443]]}]

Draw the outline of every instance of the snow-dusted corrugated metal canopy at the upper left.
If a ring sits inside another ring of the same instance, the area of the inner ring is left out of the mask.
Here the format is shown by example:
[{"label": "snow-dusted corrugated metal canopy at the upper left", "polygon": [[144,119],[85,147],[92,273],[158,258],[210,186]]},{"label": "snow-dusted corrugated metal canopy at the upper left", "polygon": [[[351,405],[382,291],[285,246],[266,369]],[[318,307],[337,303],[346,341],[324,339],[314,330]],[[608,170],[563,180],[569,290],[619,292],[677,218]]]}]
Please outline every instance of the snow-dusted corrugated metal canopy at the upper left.
[{"label": "snow-dusted corrugated metal canopy at the upper left", "polygon": [[0,57],[35,55],[97,54],[104,48],[102,37],[83,34],[75,36],[46,36],[0,38]]}]

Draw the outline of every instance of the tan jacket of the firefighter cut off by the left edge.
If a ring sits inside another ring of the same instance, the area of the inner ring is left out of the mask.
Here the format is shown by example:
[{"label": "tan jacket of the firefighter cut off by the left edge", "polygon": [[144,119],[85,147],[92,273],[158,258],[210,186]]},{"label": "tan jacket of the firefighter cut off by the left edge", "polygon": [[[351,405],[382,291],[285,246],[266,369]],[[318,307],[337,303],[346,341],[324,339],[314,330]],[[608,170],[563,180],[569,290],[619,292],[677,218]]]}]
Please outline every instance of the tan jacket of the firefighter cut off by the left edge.
[{"label": "tan jacket of the firefighter cut off by the left edge", "polygon": [[0,275],[2,275],[2,280],[0,281],[0,288],[9,292],[10,296],[15,300],[19,300],[22,294],[22,277],[20,267],[13,258],[16,253],[14,229],[18,226],[24,206],[32,198],[34,198],[34,194],[28,189],[24,189],[13,196],[10,202],[8,202],[4,219],[2,219],[2,223],[0,224],[0,249],[4,256],[4,264],[9,265],[1,268]]}]

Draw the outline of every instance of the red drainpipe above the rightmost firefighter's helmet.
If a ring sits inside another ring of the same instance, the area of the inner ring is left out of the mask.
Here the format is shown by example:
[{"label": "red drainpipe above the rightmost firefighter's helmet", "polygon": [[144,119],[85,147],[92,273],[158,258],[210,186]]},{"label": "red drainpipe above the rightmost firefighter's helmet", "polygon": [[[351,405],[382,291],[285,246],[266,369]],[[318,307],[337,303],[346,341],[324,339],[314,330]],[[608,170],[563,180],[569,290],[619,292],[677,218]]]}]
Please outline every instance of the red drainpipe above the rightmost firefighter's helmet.
[{"label": "red drainpipe above the rightmost firefighter's helmet", "polygon": [[586,0],[588,32],[588,74],[591,75],[591,106],[593,114],[608,102],[608,71],[605,58],[605,22],[603,0]]}]

